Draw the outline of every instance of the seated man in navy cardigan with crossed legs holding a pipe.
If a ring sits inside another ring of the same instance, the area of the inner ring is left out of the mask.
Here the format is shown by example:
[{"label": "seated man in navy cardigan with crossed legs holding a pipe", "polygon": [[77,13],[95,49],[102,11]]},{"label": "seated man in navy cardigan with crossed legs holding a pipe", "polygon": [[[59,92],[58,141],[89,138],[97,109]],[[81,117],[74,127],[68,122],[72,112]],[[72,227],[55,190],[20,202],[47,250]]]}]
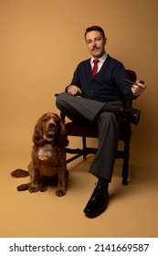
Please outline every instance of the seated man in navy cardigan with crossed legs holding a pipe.
[{"label": "seated man in navy cardigan with crossed legs holding a pipe", "polygon": [[123,108],[121,95],[136,98],[145,90],[145,85],[139,80],[134,84],[127,81],[129,78],[121,62],[112,59],[105,51],[107,38],[101,27],[88,27],[85,41],[91,58],[79,63],[66,92],[58,95],[57,107],[74,122],[96,123],[99,127],[99,149],[90,165],[90,173],[98,178],[98,182],[84,208],[86,216],[94,218],[108,205],[108,187],[122,116],[130,114],[132,123],[139,122],[139,111]]}]

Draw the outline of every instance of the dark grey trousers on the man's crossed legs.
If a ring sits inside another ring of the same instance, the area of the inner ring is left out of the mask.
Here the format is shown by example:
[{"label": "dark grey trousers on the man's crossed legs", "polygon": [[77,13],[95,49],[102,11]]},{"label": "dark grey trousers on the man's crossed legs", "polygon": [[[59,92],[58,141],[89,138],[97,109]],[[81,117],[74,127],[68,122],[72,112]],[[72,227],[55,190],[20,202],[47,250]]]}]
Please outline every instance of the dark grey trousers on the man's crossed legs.
[{"label": "dark grey trousers on the man's crossed legs", "polygon": [[113,112],[100,112],[104,102],[93,101],[60,93],[56,101],[57,107],[70,120],[76,123],[96,123],[99,127],[99,149],[90,165],[90,173],[103,177],[111,182],[113,166],[120,137],[121,120]]}]

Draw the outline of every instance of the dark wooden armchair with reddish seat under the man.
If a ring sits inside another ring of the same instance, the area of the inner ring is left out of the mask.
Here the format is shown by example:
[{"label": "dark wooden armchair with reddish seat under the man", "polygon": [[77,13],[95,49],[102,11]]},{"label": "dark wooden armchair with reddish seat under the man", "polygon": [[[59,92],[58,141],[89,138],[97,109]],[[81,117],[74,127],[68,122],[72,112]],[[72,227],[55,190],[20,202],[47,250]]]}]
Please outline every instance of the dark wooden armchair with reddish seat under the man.
[{"label": "dark wooden armchair with reddish seat under the man", "polygon": [[[136,81],[136,73],[133,70],[127,69],[129,77],[132,81]],[[58,94],[55,94],[58,96]],[[132,107],[132,98],[123,97],[122,104],[126,107]],[[60,117],[65,123],[65,114],[60,112]],[[73,155],[67,159],[67,164],[79,158],[80,156],[86,160],[87,155],[96,154],[98,148],[89,147],[87,145],[87,138],[98,138],[98,127],[90,124],[76,124],[73,122],[65,123],[68,136],[81,137],[82,147],[81,148],[69,148],[66,147],[66,153]],[[123,142],[123,149],[117,151],[116,158],[123,160],[121,177],[121,184],[124,186],[128,185],[128,176],[129,176],[129,160],[130,160],[130,143],[132,138],[132,129],[131,122],[129,118],[124,120],[124,123],[121,127],[121,137],[120,140]]]}]

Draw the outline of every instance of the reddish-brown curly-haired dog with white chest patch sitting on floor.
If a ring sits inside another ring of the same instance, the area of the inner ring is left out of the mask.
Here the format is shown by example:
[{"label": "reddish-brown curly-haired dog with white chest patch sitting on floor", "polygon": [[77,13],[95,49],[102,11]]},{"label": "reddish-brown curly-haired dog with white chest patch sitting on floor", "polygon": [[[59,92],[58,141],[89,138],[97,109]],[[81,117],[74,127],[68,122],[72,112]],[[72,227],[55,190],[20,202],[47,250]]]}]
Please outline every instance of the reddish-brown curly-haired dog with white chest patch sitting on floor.
[{"label": "reddish-brown curly-haired dog with white chest patch sitting on floor", "polygon": [[65,146],[68,145],[68,135],[65,125],[58,114],[47,112],[37,121],[33,134],[32,161],[28,165],[28,172],[16,169],[12,176],[30,176],[31,182],[22,184],[17,190],[28,189],[30,193],[47,190],[47,182],[57,178],[56,195],[66,194],[68,170],[66,164]]}]

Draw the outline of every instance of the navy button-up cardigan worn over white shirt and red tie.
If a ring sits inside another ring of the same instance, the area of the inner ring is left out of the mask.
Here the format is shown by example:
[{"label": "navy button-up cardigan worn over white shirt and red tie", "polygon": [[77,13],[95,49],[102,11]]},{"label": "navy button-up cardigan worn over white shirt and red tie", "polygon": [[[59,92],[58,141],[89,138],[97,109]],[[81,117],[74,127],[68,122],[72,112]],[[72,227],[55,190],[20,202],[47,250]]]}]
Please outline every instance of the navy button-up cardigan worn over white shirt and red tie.
[{"label": "navy button-up cardigan worn over white shirt and red tie", "polygon": [[73,84],[80,88],[81,97],[95,101],[120,101],[121,95],[134,98],[132,84],[123,79],[129,80],[126,69],[119,60],[108,55],[94,78],[91,75],[90,59],[81,61],[70,85]]}]

